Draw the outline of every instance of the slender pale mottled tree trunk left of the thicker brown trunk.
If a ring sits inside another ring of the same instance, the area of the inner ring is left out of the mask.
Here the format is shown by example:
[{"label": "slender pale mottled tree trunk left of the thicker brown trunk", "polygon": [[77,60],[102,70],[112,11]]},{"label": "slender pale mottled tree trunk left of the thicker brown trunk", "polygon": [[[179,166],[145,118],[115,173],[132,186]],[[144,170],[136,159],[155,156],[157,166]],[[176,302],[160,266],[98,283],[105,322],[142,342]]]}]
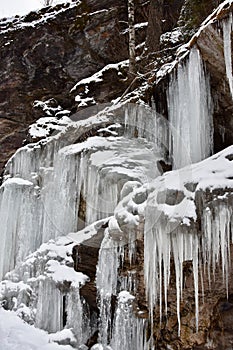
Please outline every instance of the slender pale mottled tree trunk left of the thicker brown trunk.
[{"label": "slender pale mottled tree trunk left of the thicker brown trunk", "polygon": [[129,21],[129,76],[133,78],[136,71],[134,0],[128,0],[128,21]]}]

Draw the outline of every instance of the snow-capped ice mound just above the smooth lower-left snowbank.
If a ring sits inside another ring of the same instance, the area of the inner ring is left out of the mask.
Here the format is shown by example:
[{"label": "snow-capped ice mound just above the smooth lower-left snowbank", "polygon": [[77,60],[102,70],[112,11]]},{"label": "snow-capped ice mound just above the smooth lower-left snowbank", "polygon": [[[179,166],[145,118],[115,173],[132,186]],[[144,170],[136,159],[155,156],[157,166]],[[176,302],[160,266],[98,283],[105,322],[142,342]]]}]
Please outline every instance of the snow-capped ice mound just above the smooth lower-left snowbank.
[{"label": "snow-capped ice mound just above the smooth lower-left snowbank", "polygon": [[0,283],[0,301],[49,333],[72,329],[75,346],[79,346],[96,326],[90,323],[80,298],[79,289],[88,277],[73,269],[73,246],[66,237],[44,243],[6,275]]}]

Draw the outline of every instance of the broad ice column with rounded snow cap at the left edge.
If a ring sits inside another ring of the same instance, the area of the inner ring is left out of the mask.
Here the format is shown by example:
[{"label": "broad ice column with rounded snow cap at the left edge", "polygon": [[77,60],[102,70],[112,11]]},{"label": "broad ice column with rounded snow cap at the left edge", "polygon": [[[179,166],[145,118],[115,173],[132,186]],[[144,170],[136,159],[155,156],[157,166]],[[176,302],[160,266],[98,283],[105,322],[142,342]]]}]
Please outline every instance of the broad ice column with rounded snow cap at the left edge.
[{"label": "broad ice column with rounded snow cap at the left edge", "polygon": [[[31,182],[18,178],[4,182],[0,189],[0,279],[41,244],[39,211]],[[27,227],[33,228],[30,235]]]}]

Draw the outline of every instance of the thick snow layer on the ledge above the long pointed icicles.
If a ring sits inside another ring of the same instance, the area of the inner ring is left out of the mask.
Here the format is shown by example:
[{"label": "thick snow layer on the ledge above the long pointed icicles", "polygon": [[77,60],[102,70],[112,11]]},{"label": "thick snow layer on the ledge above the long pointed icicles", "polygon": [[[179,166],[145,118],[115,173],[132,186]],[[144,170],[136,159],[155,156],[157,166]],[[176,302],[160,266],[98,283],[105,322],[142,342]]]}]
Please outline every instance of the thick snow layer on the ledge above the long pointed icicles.
[{"label": "thick snow layer on the ledge above the long pointed icicles", "polygon": [[[146,205],[156,207],[159,212],[163,212],[171,222],[178,222],[187,219],[196,220],[196,206],[194,203],[195,193],[199,190],[217,189],[227,190],[233,187],[232,162],[228,159],[233,154],[233,146],[203,160],[180,170],[167,172],[161,177],[157,177],[150,184],[135,187],[124,196],[115,209],[115,216],[118,220],[124,218],[126,223],[137,222],[137,215],[132,216],[132,212],[144,214]],[[193,186],[188,186],[193,184]],[[190,188],[189,188],[190,187]],[[192,187],[194,189],[192,189]],[[171,191],[171,192],[169,192]],[[181,193],[183,199],[176,200],[173,205],[166,203],[169,193]],[[137,204],[138,195],[143,195],[145,201]],[[146,201],[149,195],[149,203]],[[135,221],[136,220],[136,221]]]}]

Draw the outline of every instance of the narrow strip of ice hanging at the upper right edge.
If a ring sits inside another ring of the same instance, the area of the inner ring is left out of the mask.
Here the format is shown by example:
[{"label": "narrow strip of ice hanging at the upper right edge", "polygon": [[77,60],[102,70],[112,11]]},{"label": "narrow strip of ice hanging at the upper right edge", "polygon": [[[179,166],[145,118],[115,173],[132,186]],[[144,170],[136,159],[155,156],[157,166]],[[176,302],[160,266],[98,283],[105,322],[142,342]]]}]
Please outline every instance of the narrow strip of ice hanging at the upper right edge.
[{"label": "narrow strip of ice hanging at the upper right edge", "polygon": [[233,30],[233,20],[232,20],[232,13],[230,13],[228,19],[223,21],[223,43],[224,43],[226,75],[229,81],[231,96],[233,98],[233,75],[232,75],[232,52],[231,52],[232,30]]}]

